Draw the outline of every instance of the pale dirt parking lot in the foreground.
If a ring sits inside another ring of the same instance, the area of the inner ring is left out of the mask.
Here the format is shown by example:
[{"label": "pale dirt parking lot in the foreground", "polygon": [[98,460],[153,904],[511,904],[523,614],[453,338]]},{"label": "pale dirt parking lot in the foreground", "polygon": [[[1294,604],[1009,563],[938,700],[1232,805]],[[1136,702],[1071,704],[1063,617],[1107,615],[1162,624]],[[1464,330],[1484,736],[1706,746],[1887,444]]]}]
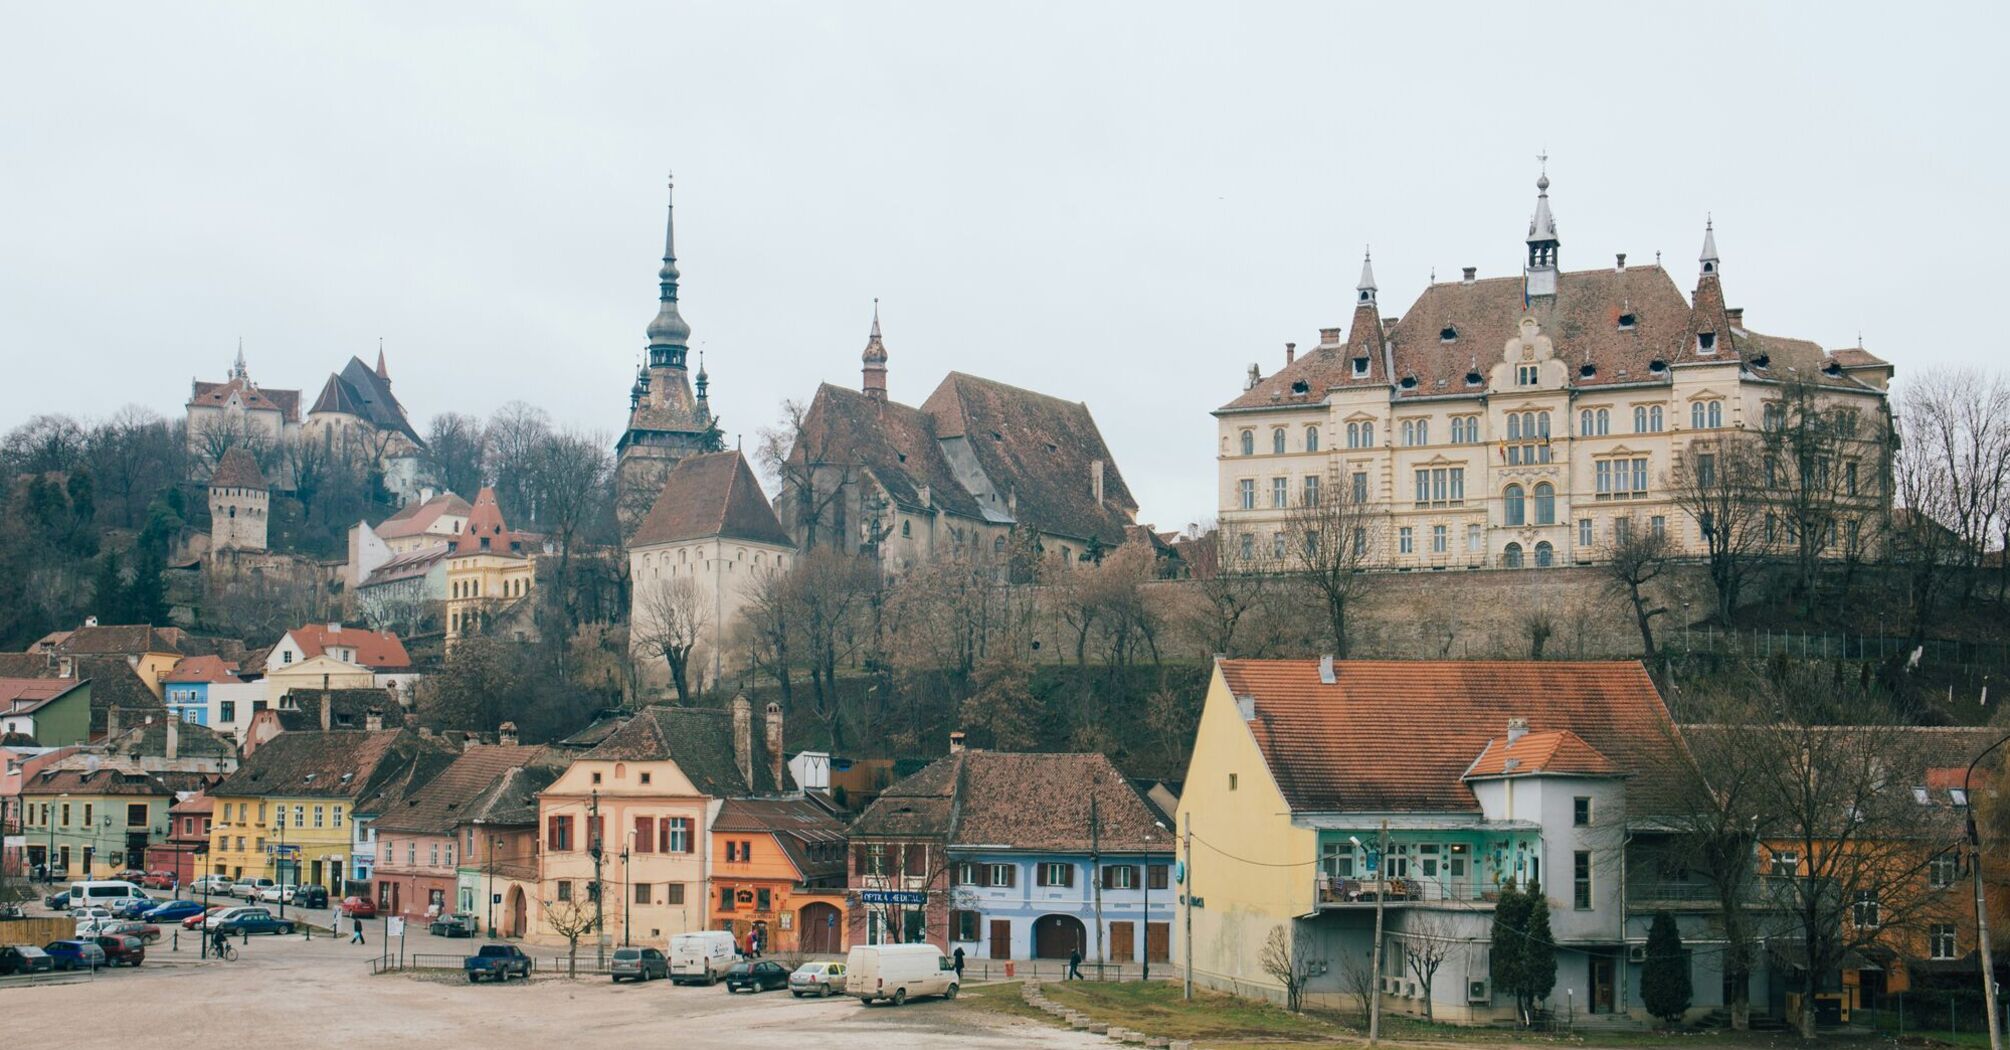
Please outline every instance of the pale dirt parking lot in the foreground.
[{"label": "pale dirt parking lot in the foreground", "polygon": [[[456,949],[466,945],[458,941]],[[253,937],[239,961],[223,964],[193,957],[187,943],[179,953],[161,943],[139,970],[62,984],[4,982],[0,1016],[6,1032],[56,1038],[66,1050],[123,1050],[135,1042],[261,1046],[283,1032],[316,1046],[492,1050],[567,1044],[595,1050],[665,1044],[691,1050],[1105,1046],[1101,1038],[953,1002],[864,1008],[842,998],[728,996],[724,986],[615,986],[607,978],[470,986],[458,974],[370,976],[368,959],[376,953],[376,943]],[[981,988],[965,992],[981,994]]]}]

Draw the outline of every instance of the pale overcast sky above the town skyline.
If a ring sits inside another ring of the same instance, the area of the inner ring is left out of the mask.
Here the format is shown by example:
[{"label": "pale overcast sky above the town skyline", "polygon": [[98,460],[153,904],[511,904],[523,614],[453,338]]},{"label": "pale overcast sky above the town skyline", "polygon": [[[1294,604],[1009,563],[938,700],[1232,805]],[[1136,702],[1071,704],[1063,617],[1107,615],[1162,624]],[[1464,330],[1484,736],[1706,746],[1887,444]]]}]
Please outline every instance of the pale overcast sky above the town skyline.
[{"label": "pale overcast sky above the town skyline", "polygon": [[[1381,302],[1715,213],[1761,332],[1998,366],[2006,4],[0,4],[0,428],[312,398],[384,340],[434,412],[619,432],[663,173],[728,441],[947,370],[1085,400],[1142,519],[1214,511],[1208,410]],[[1932,16],[1926,16],[1926,12]]]}]

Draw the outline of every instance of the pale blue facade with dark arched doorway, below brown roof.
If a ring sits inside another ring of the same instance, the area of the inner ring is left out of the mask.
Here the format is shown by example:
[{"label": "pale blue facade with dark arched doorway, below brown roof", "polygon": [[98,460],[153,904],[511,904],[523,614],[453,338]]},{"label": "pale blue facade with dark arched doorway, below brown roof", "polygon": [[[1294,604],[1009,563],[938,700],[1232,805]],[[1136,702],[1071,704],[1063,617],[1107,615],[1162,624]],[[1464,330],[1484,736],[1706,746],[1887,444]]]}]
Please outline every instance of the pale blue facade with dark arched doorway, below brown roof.
[{"label": "pale blue facade with dark arched doorway, below brown roof", "polygon": [[1081,853],[951,851],[949,861],[949,947],[969,957],[1065,959],[1075,947],[1089,966],[1097,959],[1142,964],[1148,941],[1152,961],[1164,961],[1170,951],[1178,913],[1170,851],[1101,855],[1099,863]]}]

